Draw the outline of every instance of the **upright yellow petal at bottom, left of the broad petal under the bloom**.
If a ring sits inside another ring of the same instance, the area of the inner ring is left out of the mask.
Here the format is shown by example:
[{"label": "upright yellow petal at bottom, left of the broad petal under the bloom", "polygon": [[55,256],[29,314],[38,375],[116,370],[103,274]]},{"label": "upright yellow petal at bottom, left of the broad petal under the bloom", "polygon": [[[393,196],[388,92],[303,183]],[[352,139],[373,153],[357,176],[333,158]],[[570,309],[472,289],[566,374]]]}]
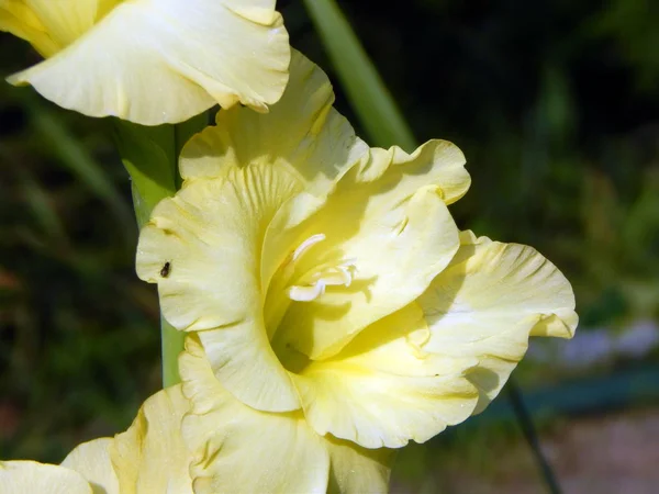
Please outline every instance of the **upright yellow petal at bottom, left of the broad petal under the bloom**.
[{"label": "upright yellow petal at bottom, left of the broad petal under the bloom", "polygon": [[192,457],[181,436],[190,409],[181,386],[149,397],[131,427],[109,447],[121,494],[192,494]]}]

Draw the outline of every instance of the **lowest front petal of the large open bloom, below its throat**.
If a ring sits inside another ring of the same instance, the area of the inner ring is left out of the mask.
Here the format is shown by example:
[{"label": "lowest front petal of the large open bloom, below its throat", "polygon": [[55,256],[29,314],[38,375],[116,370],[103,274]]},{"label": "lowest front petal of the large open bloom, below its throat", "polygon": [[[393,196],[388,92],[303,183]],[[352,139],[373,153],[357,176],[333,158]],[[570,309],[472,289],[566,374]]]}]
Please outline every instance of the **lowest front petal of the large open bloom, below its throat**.
[{"label": "lowest front petal of the large open bloom, below its throat", "polygon": [[478,360],[428,355],[420,346],[427,333],[411,304],[361,332],[336,357],[297,369],[310,425],[366,448],[399,448],[465,420],[478,401],[465,373]]}]

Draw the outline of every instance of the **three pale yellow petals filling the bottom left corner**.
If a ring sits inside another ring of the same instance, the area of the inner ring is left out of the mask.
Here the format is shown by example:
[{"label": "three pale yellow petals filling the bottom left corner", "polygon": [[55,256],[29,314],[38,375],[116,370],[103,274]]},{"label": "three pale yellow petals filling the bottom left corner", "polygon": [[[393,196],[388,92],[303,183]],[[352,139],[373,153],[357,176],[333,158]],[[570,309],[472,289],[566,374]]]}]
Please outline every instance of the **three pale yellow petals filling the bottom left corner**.
[{"label": "three pale yellow petals filling the bottom left corner", "polygon": [[0,492],[192,494],[192,456],[181,436],[189,409],[180,385],[160,391],[144,403],[125,433],[78,446],[60,465],[0,461]]}]

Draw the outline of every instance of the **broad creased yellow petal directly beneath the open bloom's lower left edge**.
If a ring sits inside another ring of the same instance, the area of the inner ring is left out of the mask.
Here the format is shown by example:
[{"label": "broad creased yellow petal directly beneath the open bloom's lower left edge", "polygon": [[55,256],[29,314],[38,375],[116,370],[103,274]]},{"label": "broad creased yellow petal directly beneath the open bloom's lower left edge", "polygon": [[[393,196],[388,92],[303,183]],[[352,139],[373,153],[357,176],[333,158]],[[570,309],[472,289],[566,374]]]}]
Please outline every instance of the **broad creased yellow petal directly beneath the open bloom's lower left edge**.
[{"label": "broad creased yellow petal directly beneath the open bloom's lower left edge", "polygon": [[217,382],[196,336],[186,350],[180,373],[193,408],[182,434],[198,453],[190,469],[194,492],[326,492],[330,454],[302,414],[243,405]]}]

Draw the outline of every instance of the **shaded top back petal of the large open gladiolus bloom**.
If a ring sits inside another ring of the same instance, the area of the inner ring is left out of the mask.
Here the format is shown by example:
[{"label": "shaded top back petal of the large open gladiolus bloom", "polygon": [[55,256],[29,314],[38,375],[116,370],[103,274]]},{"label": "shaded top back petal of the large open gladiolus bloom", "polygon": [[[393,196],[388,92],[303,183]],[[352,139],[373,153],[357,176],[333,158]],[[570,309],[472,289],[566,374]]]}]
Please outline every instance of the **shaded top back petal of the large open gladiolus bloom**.
[{"label": "shaded top back petal of the large open gladiolus bloom", "polygon": [[333,102],[325,72],[293,50],[281,100],[267,114],[238,106],[219,112],[216,125],[183,148],[181,176],[220,177],[233,166],[277,164],[289,168],[306,192],[326,195],[334,181],[368,151]]}]

